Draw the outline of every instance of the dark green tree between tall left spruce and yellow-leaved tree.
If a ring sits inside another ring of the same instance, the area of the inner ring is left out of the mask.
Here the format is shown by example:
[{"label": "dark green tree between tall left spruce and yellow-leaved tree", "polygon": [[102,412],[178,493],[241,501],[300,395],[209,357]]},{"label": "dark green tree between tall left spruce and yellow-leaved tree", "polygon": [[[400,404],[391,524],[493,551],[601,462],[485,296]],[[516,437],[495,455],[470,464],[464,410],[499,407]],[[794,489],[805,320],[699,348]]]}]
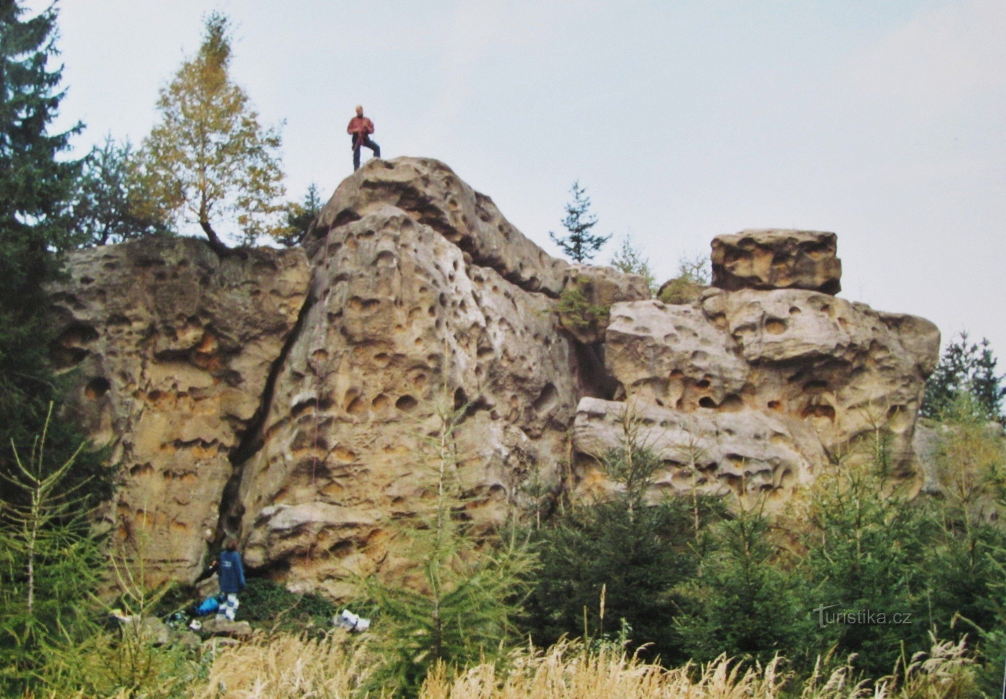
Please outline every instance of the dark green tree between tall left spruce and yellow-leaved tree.
[{"label": "dark green tree between tall left spruce and yellow-leaved tree", "polygon": [[145,235],[172,233],[170,221],[148,194],[141,164],[127,141],[111,137],[83,161],[73,201],[78,244],[121,243]]}]

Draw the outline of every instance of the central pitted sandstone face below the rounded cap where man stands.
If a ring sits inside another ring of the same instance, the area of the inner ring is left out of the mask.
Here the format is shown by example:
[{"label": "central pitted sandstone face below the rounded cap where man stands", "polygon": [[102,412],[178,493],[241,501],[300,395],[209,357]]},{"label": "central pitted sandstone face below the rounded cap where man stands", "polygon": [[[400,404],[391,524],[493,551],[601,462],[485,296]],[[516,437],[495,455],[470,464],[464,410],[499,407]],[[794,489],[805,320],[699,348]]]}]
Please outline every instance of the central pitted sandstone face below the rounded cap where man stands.
[{"label": "central pitted sandstone face below the rounded cap where man stands", "polygon": [[557,479],[578,396],[554,299],[390,206],[328,235],[313,284],[243,468],[249,565],[292,561],[289,585],[333,594],[347,567],[374,569],[389,518],[423,506],[438,402],[471,404],[457,432],[470,516],[501,521],[532,465]]}]

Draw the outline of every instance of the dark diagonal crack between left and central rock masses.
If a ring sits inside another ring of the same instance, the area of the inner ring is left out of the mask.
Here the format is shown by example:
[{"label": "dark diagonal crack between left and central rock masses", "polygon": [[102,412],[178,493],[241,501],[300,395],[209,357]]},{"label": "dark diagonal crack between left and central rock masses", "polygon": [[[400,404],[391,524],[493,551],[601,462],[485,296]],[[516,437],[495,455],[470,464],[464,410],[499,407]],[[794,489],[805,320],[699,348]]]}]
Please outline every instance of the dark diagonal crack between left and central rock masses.
[{"label": "dark diagonal crack between left and central rock masses", "polygon": [[258,410],[248,422],[247,429],[240,435],[237,440],[237,444],[227,455],[227,459],[230,461],[233,472],[231,473],[230,478],[227,479],[226,484],[224,484],[223,491],[220,493],[219,519],[217,520],[216,525],[217,542],[219,542],[219,540],[221,540],[228,533],[236,533],[240,531],[241,518],[244,516],[244,505],[241,504],[238,493],[240,492],[241,477],[244,474],[244,464],[246,464],[247,461],[255,456],[255,454],[262,449],[265,444],[263,439],[263,427],[269,419],[269,414],[273,407],[273,397],[276,394],[277,381],[284,366],[287,364],[287,358],[290,356],[291,347],[293,347],[300,338],[307,316],[310,313],[312,306],[314,306],[317,301],[312,289],[313,284],[309,287],[308,293],[304,297],[304,303],[301,305],[300,311],[298,311],[297,314],[297,321],[294,323],[293,328],[291,328],[290,333],[287,335],[287,338],[283,343],[283,348],[280,350],[280,355],[270,367],[269,376],[266,378],[266,386],[263,389],[262,399],[259,402]]}]

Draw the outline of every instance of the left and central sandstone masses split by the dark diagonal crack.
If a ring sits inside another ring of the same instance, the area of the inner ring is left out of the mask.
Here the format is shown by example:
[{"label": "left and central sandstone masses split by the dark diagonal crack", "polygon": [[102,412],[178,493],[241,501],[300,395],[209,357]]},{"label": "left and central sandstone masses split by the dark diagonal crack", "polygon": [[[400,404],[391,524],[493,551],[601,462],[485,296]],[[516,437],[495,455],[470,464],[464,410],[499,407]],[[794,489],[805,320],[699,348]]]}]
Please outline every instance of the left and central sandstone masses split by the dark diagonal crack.
[{"label": "left and central sandstone masses split by the dark diagonal crack", "polygon": [[499,519],[528,469],[554,480],[576,401],[602,391],[600,358],[557,326],[563,286],[648,295],[552,259],[436,161],[362,168],[305,247],[140,240],[74,253],[53,289],[80,416],[127,474],[120,536],[155,574],[191,580],[224,532],[291,586],[373,567],[388,518],[421,506],[444,401],[469,406],[470,514]]}]

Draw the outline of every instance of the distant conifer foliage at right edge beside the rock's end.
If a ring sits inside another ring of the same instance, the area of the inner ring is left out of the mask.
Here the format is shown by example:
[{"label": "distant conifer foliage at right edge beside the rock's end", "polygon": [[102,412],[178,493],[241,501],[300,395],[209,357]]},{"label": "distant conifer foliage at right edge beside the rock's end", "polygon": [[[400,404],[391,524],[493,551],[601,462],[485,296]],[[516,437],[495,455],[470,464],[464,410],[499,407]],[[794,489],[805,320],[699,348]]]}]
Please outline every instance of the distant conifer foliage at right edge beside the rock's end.
[{"label": "distant conifer foliage at right edge beside the rock's end", "polygon": [[997,375],[998,360],[988,339],[970,342],[962,332],[944,350],[940,364],[926,382],[926,397],[920,413],[927,418],[940,418],[961,392],[972,394],[990,420],[1006,422],[1003,397],[1006,375]]}]

